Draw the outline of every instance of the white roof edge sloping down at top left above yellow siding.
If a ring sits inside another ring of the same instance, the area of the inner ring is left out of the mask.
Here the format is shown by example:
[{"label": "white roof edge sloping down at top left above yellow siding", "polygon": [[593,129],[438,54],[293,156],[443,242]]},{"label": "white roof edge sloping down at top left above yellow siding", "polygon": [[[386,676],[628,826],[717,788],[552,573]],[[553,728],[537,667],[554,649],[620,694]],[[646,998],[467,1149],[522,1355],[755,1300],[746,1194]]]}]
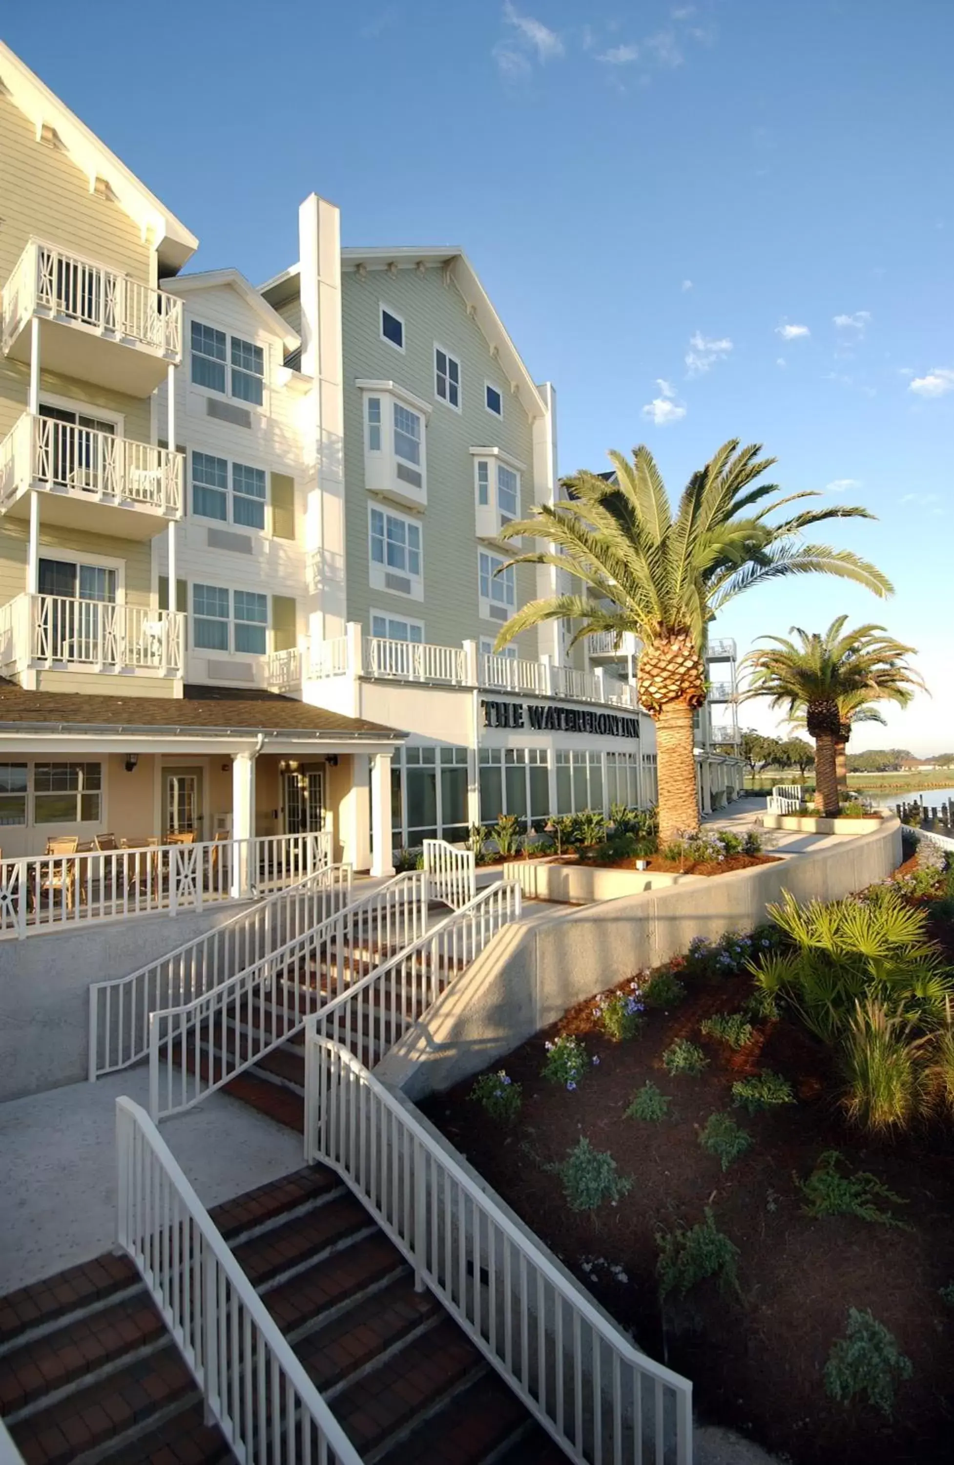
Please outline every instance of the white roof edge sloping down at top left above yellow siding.
[{"label": "white roof edge sloping down at top left above yellow siding", "polygon": [[180,270],[199,248],[195,234],[3,41],[0,41],[0,85],[15,107],[34,123],[37,136],[44,125],[54,127],[64,151],[89,179],[89,186],[95,185],[97,177],[104,179],[119,207],[139,226],[144,237],[148,230],[152,231],[164,268]]}]

